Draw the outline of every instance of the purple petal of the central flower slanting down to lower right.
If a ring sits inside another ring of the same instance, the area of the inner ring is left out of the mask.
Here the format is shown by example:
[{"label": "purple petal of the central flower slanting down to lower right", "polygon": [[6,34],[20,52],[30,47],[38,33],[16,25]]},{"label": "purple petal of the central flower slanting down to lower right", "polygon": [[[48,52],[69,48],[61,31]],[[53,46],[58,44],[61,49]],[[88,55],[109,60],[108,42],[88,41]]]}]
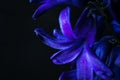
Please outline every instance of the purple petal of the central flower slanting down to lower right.
[{"label": "purple petal of the central flower slanting down to lower right", "polygon": [[88,52],[89,62],[91,63],[95,73],[102,79],[109,80],[109,78],[112,76],[112,71],[93,55],[93,52],[89,47],[86,48],[86,51]]}]

